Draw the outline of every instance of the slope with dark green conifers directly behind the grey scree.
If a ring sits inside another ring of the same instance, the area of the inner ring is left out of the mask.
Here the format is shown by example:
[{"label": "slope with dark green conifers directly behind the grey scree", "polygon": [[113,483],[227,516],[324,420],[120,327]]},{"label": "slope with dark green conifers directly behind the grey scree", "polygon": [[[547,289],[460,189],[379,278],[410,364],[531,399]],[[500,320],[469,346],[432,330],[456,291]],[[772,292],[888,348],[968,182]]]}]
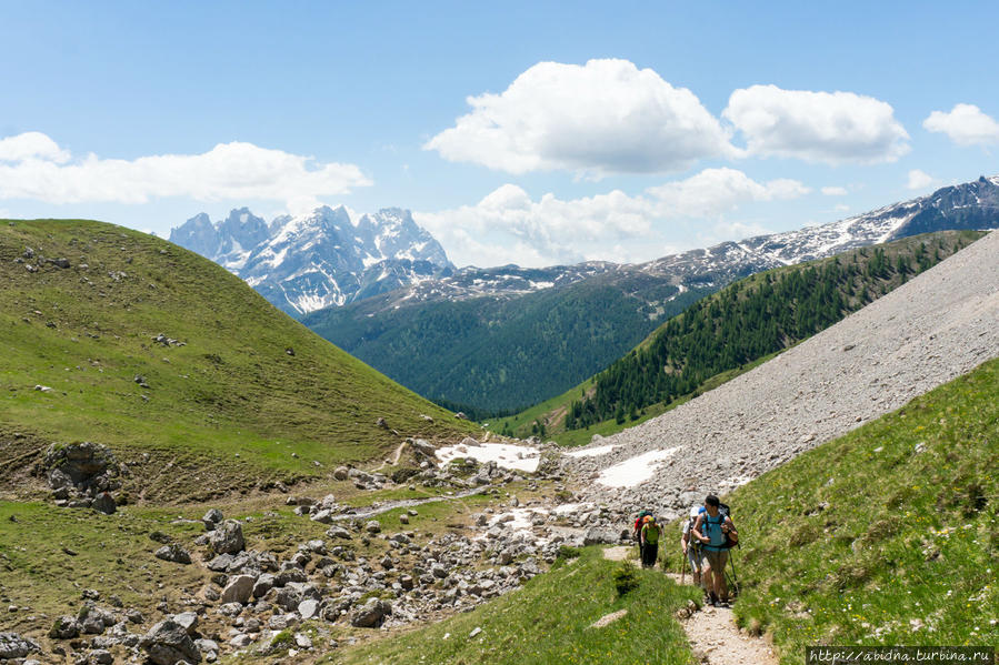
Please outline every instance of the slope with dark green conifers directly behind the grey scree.
[{"label": "slope with dark green conifers directly behind the grey scree", "polygon": [[801,342],[981,236],[945,231],[752,275],[709,295],[561,399],[498,421],[586,443],[662,413]]}]

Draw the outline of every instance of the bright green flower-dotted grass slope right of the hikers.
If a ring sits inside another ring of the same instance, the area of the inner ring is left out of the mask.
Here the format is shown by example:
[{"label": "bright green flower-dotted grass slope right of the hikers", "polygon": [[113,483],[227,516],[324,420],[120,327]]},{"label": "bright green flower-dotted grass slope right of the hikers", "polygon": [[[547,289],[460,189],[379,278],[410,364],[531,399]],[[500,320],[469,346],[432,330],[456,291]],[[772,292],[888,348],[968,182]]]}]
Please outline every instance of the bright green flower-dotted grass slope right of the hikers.
[{"label": "bright green flower-dotted grass slope right of the hikers", "polygon": [[728,500],[742,625],[809,645],[999,644],[999,360]]}]

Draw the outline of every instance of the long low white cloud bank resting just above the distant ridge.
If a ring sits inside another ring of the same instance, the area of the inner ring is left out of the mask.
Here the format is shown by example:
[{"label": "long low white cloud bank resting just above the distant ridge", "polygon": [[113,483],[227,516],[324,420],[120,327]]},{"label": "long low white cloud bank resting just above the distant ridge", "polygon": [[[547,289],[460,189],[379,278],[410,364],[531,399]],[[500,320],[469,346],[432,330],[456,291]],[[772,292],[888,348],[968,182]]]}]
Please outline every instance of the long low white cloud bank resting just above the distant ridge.
[{"label": "long low white cloud bank resting just above the distant ridge", "polygon": [[636,197],[613,190],[570,200],[547,193],[533,200],[523,189],[505,184],[474,205],[413,216],[460,265],[553,265],[606,260],[611,253],[619,261],[645,261],[676,251],[661,233],[668,222],[717,224],[745,203],[807,192],[793,180],[760,183],[733,169],[707,169]]}]

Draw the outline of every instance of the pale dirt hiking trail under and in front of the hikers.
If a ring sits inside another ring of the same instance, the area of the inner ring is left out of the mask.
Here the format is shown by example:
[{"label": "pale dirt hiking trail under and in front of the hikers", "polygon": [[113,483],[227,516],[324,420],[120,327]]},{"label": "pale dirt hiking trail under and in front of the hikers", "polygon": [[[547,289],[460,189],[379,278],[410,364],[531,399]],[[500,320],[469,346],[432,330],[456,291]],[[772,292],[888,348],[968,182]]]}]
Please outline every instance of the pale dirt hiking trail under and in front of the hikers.
[{"label": "pale dirt hiking trail under and in front of the hikers", "polygon": [[[636,548],[622,545],[606,547],[603,558],[626,561],[633,558]],[[667,573],[677,584],[680,575]],[[690,575],[686,582],[690,583]],[[705,606],[680,624],[687,632],[687,639],[695,656],[709,665],[778,665],[773,649],[761,637],[752,637],[736,626],[732,611],[728,607]]]}]

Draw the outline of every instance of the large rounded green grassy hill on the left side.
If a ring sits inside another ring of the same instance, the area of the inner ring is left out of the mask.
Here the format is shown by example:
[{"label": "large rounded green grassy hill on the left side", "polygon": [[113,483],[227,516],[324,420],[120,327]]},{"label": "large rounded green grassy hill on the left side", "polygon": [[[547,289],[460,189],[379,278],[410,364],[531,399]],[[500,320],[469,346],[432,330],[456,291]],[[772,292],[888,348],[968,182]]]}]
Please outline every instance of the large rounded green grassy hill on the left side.
[{"label": "large rounded green grassy hill on the left side", "polygon": [[[134,462],[130,482],[147,497],[177,498],[323,475],[404,436],[473,426],[222,268],[151,235],[89,221],[3,221],[0,282],[8,486],[53,441],[107,444]],[[182,345],[156,342],[160,334]]]}]

